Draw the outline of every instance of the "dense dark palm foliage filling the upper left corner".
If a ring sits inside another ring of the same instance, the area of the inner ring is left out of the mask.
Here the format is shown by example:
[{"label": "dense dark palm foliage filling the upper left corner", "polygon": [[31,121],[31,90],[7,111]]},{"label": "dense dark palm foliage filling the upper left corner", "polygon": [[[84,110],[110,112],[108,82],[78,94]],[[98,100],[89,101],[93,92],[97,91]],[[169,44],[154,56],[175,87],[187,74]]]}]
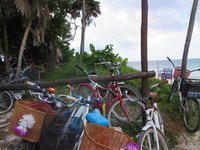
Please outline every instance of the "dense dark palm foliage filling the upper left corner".
[{"label": "dense dark palm foliage filling the upper left corner", "polygon": [[[65,51],[65,61],[73,55],[69,41],[75,36],[73,25],[82,13],[81,0],[1,0],[0,52],[6,58],[18,57],[18,71],[22,58],[56,62]],[[100,3],[86,3],[86,24],[101,14]],[[13,26],[14,25],[14,26]],[[75,30],[77,26],[75,25]],[[13,32],[14,31],[14,32]]]}]

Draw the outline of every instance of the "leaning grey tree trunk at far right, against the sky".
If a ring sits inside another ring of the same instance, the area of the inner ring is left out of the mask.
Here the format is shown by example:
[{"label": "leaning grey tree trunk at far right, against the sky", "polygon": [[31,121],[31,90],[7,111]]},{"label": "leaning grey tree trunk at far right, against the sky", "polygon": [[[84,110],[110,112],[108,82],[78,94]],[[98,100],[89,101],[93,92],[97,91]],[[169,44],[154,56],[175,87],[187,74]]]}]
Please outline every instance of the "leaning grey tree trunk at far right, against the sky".
[{"label": "leaning grey tree trunk at far right, against the sky", "polygon": [[185,47],[184,47],[184,51],[183,51],[181,77],[185,77],[185,74],[186,74],[187,57],[188,57],[190,41],[191,41],[194,22],[195,22],[197,6],[198,6],[198,0],[194,0],[193,6],[192,6],[192,11],[190,14],[190,22],[189,22],[188,31],[187,31]]}]

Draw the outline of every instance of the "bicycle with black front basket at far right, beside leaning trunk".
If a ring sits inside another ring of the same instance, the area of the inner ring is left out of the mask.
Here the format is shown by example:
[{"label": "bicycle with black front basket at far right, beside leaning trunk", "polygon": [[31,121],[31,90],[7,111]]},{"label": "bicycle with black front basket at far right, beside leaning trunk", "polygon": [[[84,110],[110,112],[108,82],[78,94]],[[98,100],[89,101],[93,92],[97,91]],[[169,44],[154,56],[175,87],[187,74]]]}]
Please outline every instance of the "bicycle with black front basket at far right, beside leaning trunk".
[{"label": "bicycle with black front basket at far right, beside leaning trunk", "polygon": [[169,62],[174,67],[174,82],[169,94],[167,102],[171,102],[173,96],[178,91],[180,114],[183,118],[184,125],[189,132],[197,132],[200,128],[200,104],[197,97],[189,97],[189,93],[194,89],[200,91],[200,85],[198,79],[189,79],[189,75],[194,71],[200,71],[200,69],[186,70],[185,76],[182,78],[181,67],[175,66],[172,60],[167,57]]}]

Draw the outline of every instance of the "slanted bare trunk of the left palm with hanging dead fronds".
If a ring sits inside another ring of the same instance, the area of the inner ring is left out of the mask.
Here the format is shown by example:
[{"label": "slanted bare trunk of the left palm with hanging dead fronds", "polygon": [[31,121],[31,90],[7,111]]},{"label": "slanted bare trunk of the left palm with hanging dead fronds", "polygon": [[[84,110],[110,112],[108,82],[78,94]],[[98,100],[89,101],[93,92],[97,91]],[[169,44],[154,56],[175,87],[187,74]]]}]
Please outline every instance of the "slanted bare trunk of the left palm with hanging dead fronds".
[{"label": "slanted bare trunk of the left palm with hanging dead fronds", "polygon": [[24,32],[24,37],[23,37],[23,40],[22,40],[22,43],[21,43],[21,46],[20,46],[18,62],[17,62],[16,78],[18,78],[19,74],[20,74],[21,65],[22,65],[22,57],[23,57],[24,49],[26,47],[26,41],[27,41],[28,34],[29,34],[29,31],[30,31],[31,23],[32,23],[32,19],[29,19],[28,24],[26,26],[26,30]]}]

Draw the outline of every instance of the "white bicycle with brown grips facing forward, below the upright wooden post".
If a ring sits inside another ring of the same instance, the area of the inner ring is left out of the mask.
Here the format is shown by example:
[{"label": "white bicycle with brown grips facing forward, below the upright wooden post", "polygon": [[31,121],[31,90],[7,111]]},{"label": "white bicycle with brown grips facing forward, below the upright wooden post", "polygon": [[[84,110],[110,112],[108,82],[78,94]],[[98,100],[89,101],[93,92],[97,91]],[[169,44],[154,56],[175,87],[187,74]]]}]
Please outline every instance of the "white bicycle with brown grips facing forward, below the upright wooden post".
[{"label": "white bicycle with brown grips facing forward, below the upright wooden post", "polygon": [[[151,92],[152,89],[159,88],[161,84],[167,82],[167,80],[164,80],[152,85],[149,96],[142,99],[145,107],[146,124],[141,129],[138,136],[138,145],[140,150],[169,149],[164,136],[163,119],[160,115],[157,103],[152,102],[152,100],[157,97],[157,93]],[[150,102],[150,106],[147,106],[148,101]]]}]

